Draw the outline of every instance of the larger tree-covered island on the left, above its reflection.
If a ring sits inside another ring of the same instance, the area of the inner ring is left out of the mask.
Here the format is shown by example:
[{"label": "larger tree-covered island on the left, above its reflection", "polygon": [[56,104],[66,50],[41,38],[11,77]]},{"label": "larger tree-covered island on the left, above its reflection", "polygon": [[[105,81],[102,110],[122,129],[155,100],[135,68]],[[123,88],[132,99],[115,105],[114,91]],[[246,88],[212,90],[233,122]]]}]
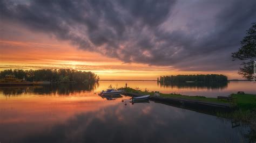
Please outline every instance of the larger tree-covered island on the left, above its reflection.
[{"label": "larger tree-covered island on the left, above its reflection", "polygon": [[7,69],[0,73],[0,77],[5,75],[15,75],[16,78],[25,78],[26,81],[50,81],[50,82],[76,82],[95,83],[99,81],[99,76],[91,71],[81,71],[74,69],[38,69],[22,70]]}]

